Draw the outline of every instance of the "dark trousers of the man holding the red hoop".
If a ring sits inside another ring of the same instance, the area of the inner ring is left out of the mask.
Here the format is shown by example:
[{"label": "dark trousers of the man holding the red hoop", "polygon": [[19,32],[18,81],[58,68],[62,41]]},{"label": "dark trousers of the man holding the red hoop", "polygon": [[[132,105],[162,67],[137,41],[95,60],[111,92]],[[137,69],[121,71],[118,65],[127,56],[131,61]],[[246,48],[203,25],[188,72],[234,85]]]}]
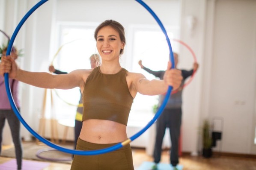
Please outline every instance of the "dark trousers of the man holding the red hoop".
[{"label": "dark trousers of the man holding the red hoop", "polygon": [[170,129],[172,146],[170,149],[170,163],[176,166],[179,163],[179,135],[182,122],[181,108],[165,108],[161,116],[156,121],[156,139],[154,150],[154,161],[159,163],[161,160],[162,143],[165,129]]}]

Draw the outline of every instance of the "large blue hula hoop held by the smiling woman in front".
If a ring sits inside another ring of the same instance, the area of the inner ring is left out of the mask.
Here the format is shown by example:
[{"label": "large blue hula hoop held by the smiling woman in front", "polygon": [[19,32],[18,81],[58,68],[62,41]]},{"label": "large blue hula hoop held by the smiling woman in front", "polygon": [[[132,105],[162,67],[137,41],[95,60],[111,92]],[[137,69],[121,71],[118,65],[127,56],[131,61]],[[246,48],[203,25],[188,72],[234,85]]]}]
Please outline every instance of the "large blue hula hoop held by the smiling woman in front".
[{"label": "large blue hula hoop held by the smiling woman in front", "polygon": [[[27,20],[27,18],[30,17],[30,15],[36,10],[38,9],[42,4],[44,4],[45,2],[47,2],[48,0],[41,0],[39,1],[39,3],[37,3],[35,6],[33,6],[32,9],[29,10],[29,12],[27,12],[27,14],[21,19],[20,23],[18,24],[18,26],[16,27],[11,40],[9,42],[8,48],[7,48],[7,52],[6,52],[6,56],[9,56],[11,53],[11,49],[12,49],[12,45],[13,42],[15,40],[16,35],[18,34],[19,30],[21,29],[21,26],[25,23],[25,21]],[[174,57],[173,57],[173,50],[172,50],[172,46],[170,43],[170,39],[167,35],[166,29],[164,28],[164,25],[161,23],[161,21],[159,20],[158,16],[155,14],[155,12],[153,12],[152,9],[150,9],[150,7],[148,5],[146,5],[146,3],[144,3],[142,0],[136,0],[138,3],[140,3],[140,5],[142,5],[157,21],[158,25],[161,27],[168,46],[169,46],[169,50],[170,50],[170,60],[172,63],[174,63]],[[174,64],[172,64],[172,68],[174,68]],[[34,135],[37,139],[39,139],[40,141],[42,141],[43,143],[47,144],[49,147],[52,147],[54,149],[60,150],[62,152],[66,152],[66,153],[70,153],[70,154],[74,154],[74,155],[99,155],[99,154],[103,154],[103,153],[107,153],[107,152],[111,152],[114,151],[116,149],[119,149],[123,146],[125,146],[126,144],[129,144],[131,141],[135,140],[136,138],[138,138],[140,135],[142,135],[147,129],[149,129],[150,126],[152,126],[152,124],[158,119],[158,117],[161,115],[164,107],[167,104],[167,101],[170,97],[171,91],[173,89],[172,86],[168,87],[167,90],[167,94],[164,98],[163,103],[161,104],[160,108],[158,109],[158,111],[156,112],[155,116],[153,117],[153,119],[151,121],[149,121],[149,123],[143,128],[141,129],[139,132],[137,132],[135,135],[131,136],[131,138],[120,142],[112,147],[108,147],[108,148],[104,148],[104,149],[99,149],[99,150],[93,150],[93,151],[78,151],[78,150],[73,150],[73,149],[66,149],[63,147],[60,147],[56,144],[51,143],[50,141],[46,140],[45,138],[43,138],[42,136],[40,136],[39,134],[37,134],[33,129],[31,129],[31,127],[25,122],[25,120],[21,117],[21,114],[19,113],[13,97],[12,97],[12,93],[10,90],[10,85],[9,85],[9,73],[5,73],[4,74],[4,78],[5,78],[5,86],[6,86],[6,92],[8,95],[8,99],[11,103],[12,109],[14,110],[16,116],[18,117],[18,119],[21,121],[21,123],[25,126],[25,128],[32,134]]]}]

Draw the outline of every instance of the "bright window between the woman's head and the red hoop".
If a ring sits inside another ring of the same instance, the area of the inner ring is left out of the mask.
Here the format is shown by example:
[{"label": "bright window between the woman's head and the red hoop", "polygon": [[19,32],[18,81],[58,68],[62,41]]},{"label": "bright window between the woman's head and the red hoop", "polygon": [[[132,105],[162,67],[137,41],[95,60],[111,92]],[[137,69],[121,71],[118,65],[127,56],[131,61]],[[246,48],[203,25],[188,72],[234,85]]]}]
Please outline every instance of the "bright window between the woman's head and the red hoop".
[{"label": "bright window between the woman's head and the red hoop", "polygon": [[[155,76],[141,69],[138,61],[142,60],[142,64],[151,70],[166,70],[169,61],[169,47],[164,33],[152,26],[133,26],[132,33],[132,49],[131,65],[132,72],[143,73],[147,79],[155,79]],[[167,31],[170,40],[179,36],[178,29],[169,29]],[[172,43],[172,49],[179,52],[179,44]],[[137,94],[131,108],[129,123],[131,121],[145,121],[146,123],[152,119],[154,105],[158,104],[158,96],[146,96]],[[151,115],[150,115],[151,114]],[[146,119],[145,119],[146,118]]]}]

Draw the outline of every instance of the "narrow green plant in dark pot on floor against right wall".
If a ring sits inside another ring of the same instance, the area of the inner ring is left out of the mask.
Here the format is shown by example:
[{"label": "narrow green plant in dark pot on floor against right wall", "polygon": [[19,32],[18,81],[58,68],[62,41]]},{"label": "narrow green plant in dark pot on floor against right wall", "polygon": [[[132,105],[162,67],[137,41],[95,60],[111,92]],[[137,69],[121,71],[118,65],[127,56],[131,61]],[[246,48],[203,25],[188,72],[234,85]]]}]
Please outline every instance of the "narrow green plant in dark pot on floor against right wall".
[{"label": "narrow green plant in dark pot on floor against right wall", "polygon": [[212,155],[211,125],[207,119],[204,120],[203,126],[202,126],[202,144],[203,144],[203,149],[202,149],[203,157],[210,158]]}]

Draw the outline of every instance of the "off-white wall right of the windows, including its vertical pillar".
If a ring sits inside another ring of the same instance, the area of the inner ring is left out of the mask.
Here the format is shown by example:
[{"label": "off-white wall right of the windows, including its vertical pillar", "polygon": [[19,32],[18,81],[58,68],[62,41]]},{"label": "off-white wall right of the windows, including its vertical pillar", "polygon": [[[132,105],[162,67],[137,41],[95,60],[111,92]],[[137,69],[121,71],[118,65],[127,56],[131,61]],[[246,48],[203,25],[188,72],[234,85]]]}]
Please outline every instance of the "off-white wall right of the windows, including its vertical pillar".
[{"label": "off-white wall right of the windows, including its vertical pillar", "polygon": [[[256,1],[253,0],[182,1],[181,39],[193,44],[201,64],[201,75],[196,76],[201,83],[190,85],[184,93],[190,94],[184,99],[184,151],[193,153],[197,148],[195,142],[200,148],[201,141],[196,141],[200,138],[193,136],[202,119],[207,117],[223,120],[222,148],[217,147],[217,151],[256,153],[252,144],[255,130],[255,9]],[[188,15],[197,18],[193,32],[184,27]],[[186,104],[195,100],[196,106],[192,108]]]}]

